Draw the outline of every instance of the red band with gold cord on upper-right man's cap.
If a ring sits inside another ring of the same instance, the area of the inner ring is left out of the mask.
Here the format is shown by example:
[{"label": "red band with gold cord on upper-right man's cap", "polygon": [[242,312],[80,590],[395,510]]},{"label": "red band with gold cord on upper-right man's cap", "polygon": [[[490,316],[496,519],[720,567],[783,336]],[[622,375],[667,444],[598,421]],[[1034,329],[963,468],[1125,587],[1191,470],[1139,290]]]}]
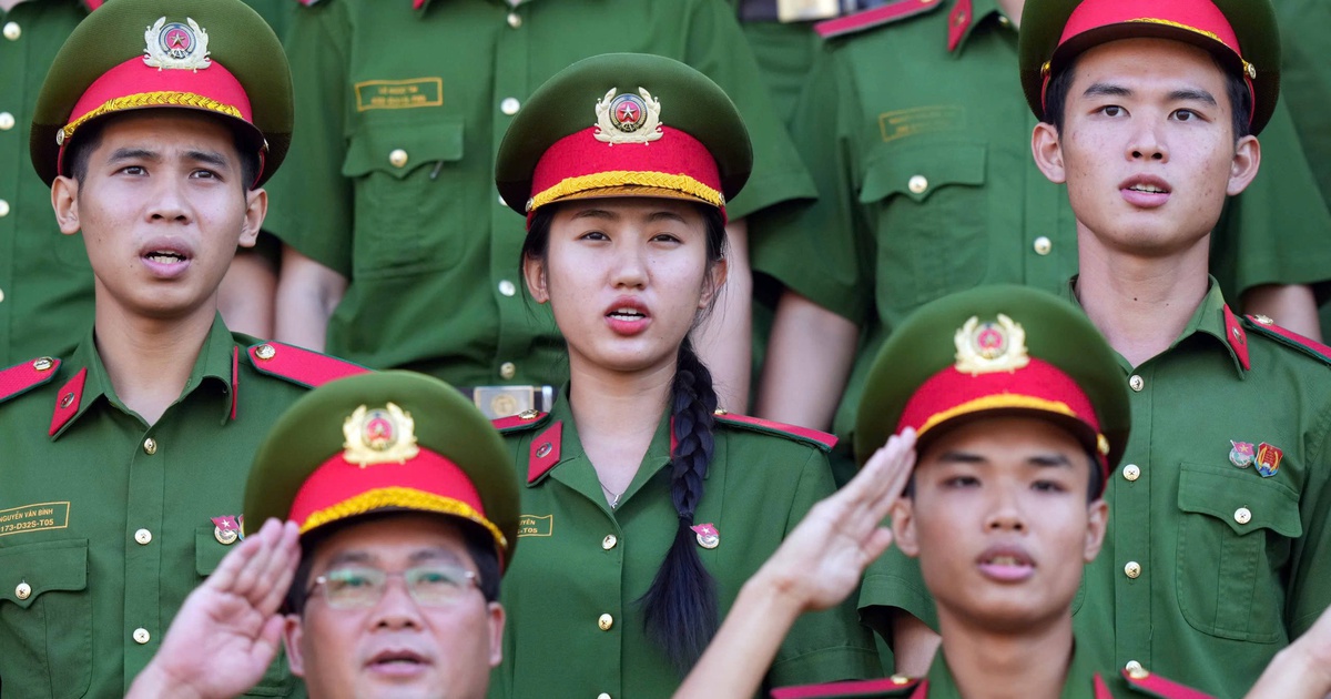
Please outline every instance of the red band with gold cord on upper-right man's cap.
[{"label": "red band with gold cord on upper-right man's cap", "polygon": [[[1054,49],[1053,57],[1044,67],[1045,85],[1041,88],[1041,103],[1044,103],[1044,91],[1049,88],[1050,76],[1074,56],[1106,41],[1138,36],[1175,39],[1230,59],[1243,72],[1248,92],[1254,96],[1255,109],[1256,92],[1252,89],[1252,79],[1256,77],[1256,69],[1243,60],[1234,27],[1211,0],[1171,0],[1167,3],[1161,0],[1083,0],[1067,17],[1063,33],[1058,39],[1058,48]],[[1252,116],[1254,113],[1248,113],[1250,124]]]}]

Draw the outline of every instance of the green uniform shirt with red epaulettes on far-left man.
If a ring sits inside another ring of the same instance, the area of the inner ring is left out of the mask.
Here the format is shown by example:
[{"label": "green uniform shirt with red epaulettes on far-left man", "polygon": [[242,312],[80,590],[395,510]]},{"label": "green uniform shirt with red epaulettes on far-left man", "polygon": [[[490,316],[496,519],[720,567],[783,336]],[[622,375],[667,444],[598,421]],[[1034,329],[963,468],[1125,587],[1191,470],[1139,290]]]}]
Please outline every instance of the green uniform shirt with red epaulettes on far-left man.
[{"label": "green uniform shirt with red epaulettes on far-left man", "polygon": [[[152,426],[116,397],[91,332],[64,362],[0,374],[11,395],[0,402],[3,696],[122,696],[185,595],[230,550],[213,518],[241,514],[258,442],[305,394],[297,381],[315,382],[290,371],[293,353],[297,363],[313,353],[280,346],[252,359],[253,344],[217,318],[180,398]],[[314,363],[325,378],[358,370]],[[44,383],[13,394],[9,377],[29,371]],[[303,695],[303,684],[282,656],[250,695]]]}]

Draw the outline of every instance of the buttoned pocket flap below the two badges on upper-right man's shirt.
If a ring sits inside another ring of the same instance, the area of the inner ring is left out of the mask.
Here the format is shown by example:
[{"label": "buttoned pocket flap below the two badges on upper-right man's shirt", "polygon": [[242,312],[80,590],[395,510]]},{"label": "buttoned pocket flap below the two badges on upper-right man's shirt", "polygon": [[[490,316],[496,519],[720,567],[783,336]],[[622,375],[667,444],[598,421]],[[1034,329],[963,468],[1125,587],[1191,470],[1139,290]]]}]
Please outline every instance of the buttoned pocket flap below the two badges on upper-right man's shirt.
[{"label": "buttoned pocket flap below the two badges on upper-right man's shirt", "polygon": [[1299,495],[1260,478],[1251,469],[1217,470],[1214,466],[1183,463],[1178,479],[1178,509],[1211,515],[1239,537],[1270,529],[1291,539],[1303,535]]}]

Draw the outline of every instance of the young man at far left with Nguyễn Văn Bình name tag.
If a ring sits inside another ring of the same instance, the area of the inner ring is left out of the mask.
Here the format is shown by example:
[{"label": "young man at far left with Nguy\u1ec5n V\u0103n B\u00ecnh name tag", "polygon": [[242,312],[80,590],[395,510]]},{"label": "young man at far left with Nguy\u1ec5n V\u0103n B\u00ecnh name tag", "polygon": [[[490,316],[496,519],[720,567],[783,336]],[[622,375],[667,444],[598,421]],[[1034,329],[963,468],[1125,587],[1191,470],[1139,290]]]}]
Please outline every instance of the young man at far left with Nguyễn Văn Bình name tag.
[{"label": "young man at far left with Nguy\u1ec5n V\u0103n B\u00ecnh name tag", "polygon": [[[362,371],[217,316],[290,126],[281,44],[236,0],[116,0],[57,53],[31,157],[96,309],[68,357],[0,371],[5,696],[122,694],[236,541],[262,427]],[[299,688],[280,662],[257,691]]]}]

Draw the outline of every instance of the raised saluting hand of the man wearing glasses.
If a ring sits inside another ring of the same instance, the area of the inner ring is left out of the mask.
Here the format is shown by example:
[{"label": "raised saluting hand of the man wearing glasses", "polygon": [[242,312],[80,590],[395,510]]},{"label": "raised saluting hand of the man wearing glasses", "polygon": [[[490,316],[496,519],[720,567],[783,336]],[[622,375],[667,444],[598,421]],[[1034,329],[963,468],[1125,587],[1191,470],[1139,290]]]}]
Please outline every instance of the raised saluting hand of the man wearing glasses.
[{"label": "raised saluting hand of the man wearing glasses", "polygon": [[294,522],[269,519],[226,554],[172,622],[126,699],[221,699],[258,683],[282,638],[278,608],[299,562]]}]

